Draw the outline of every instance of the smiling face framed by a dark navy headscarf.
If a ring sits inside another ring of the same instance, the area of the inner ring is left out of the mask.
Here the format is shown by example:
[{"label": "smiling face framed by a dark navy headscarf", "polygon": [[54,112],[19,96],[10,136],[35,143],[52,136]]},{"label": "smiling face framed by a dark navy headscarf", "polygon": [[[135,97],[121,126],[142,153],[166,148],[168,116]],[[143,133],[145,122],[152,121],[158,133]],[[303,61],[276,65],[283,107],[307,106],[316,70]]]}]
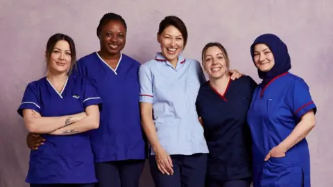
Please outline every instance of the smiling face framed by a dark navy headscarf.
[{"label": "smiling face framed by a dark navy headscarf", "polygon": [[253,60],[257,69],[263,72],[270,71],[274,64],[274,55],[266,44],[256,44],[253,48]]}]

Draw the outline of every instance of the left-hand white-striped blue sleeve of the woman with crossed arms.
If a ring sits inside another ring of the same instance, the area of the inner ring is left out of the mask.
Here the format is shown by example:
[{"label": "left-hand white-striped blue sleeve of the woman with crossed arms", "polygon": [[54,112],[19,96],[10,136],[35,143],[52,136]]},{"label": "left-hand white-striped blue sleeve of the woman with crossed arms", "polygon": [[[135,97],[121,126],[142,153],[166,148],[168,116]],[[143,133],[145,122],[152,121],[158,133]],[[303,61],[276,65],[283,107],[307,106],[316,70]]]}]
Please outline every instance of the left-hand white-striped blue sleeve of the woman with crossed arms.
[{"label": "left-hand white-striped blue sleeve of the woman with crossed arms", "polygon": [[36,85],[33,83],[28,84],[28,86],[26,87],[22,98],[22,103],[21,105],[19,105],[19,109],[17,109],[17,113],[22,117],[24,109],[33,109],[36,112],[41,113],[40,94]]}]

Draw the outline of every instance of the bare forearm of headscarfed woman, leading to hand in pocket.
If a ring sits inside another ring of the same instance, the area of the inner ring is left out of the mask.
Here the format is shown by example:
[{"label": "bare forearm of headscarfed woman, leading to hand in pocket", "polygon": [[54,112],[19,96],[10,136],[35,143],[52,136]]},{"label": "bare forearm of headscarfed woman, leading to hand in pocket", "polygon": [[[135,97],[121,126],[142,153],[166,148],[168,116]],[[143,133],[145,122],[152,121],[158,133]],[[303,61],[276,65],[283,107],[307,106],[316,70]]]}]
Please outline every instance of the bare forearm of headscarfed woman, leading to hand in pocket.
[{"label": "bare forearm of headscarfed woman, leading to hand in pocket", "polygon": [[302,139],[305,139],[315,125],[314,112],[308,112],[302,116],[301,121],[296,125],[295,129],[278,146],[282,148],[284,152],[287,152],[289,149],[293,148],[294,145],[302,141]]}]

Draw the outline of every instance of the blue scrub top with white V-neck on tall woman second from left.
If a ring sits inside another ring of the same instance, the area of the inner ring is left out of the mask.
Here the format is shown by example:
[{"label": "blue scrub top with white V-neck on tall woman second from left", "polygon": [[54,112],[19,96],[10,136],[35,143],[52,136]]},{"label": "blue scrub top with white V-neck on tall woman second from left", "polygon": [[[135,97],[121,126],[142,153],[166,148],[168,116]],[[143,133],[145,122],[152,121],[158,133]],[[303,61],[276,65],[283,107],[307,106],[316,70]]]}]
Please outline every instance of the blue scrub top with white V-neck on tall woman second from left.
[{"label": "blue scrub top with white V-neck on tall woman second from left", "polygon": [[95,162],[146,159],[139,114],[140,63],[121,54],[112,69],[98,53],[92,53],[77,64],[78,73],[92,83],[103,100],[99,129],[91,133]]}]

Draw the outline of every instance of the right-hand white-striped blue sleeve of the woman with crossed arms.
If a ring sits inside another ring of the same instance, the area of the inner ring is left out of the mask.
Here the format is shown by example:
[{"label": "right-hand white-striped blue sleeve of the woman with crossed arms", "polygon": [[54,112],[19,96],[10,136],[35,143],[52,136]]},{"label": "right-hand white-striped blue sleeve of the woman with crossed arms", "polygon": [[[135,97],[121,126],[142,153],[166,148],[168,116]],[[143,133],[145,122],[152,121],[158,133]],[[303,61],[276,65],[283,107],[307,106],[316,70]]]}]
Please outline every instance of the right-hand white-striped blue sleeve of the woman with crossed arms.
[{"label": "right-hand white-striped blue sleeve of the woman with crossed arms", "polygon": [[83,107],[87,108],[90,105],[99,105],[99,109],[102,106],[101,97],[97,94],[96,89],[92,86],[89,80],[85,79],[85,93],[83,94]]}]

